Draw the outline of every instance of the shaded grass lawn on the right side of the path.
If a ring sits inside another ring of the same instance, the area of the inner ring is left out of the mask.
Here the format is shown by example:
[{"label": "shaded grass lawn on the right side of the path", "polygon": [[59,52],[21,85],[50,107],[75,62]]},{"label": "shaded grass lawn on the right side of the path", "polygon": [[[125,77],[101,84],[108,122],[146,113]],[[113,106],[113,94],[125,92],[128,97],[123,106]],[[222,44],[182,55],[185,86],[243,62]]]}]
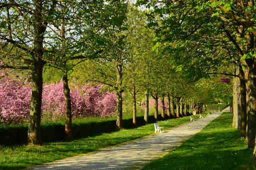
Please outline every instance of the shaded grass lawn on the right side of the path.
[{"label": "shaded grass lawn on the right side of the path", "polygon": [[252,150],[231,127],[232,113],[223,113],[199,133],[143,169],[255,169]]}]

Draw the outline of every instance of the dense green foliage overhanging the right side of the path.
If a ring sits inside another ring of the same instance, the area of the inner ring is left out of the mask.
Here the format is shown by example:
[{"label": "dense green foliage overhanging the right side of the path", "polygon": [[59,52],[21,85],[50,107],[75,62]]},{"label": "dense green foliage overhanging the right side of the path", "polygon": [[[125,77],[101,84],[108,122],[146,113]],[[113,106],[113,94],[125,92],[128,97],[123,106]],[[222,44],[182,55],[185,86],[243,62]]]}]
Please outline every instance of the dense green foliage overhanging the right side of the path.
[{"label": "dense green foliage overhanging the right side of the path", "polygon": [[[227,14],[230,11],[235,15],[233,17],[240,17],[236,16],[243,10],[239,2],[184,0],[162,1],[158,4],[154,0],[140,0],[137,1],[137,5],[139,4],[152,8],[147,15],[148,25],[155,30],[158,37],[155,44],[162,44],[160,50],[169,55],[176,71],[182,71],[191,81],[207,77],[208,72],[233,73],[232,69],[220,71],[219,67],[234,64],[233,61],[240,57],[237,45],[246,41],[246,38],[245,41],[242,40],[243,33],[238,35],[239,26],[234,26],[237,23],[230,24],[239,21],[229,18],[230,14]],[[255,13],[252,12],[252,6],[245,6],[250,8],[248,13]],[[242,12],[242,15],[244,14],[245,12]],[[245,32],[253,33],[252,29],[250,24]],[[233,44],[226,32],[237,42]],[[251,50],[252,52],[244,52],[244,56],[240,58],[252,58],[254,50]]]}]

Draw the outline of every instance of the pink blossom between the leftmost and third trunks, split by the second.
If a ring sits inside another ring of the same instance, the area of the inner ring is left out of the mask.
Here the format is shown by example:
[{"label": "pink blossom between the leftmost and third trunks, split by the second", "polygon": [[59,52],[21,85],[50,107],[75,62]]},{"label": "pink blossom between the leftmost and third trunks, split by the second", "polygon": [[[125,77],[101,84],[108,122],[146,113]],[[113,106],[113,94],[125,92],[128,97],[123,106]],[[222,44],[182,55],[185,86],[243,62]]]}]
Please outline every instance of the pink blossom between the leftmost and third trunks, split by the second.
[{"label": "pink blossom between the leftmost and third trunks, split by the second", "polygon": [[[62,81],[46,84],[43,88],[42,107],[43,116],[50,115],[52,120],[64,115],[65,101],[62,92]],[[108,91],[101,92],[102,85],[71,87],[72,117],[111,116],[115,108],[115,94]]]}]

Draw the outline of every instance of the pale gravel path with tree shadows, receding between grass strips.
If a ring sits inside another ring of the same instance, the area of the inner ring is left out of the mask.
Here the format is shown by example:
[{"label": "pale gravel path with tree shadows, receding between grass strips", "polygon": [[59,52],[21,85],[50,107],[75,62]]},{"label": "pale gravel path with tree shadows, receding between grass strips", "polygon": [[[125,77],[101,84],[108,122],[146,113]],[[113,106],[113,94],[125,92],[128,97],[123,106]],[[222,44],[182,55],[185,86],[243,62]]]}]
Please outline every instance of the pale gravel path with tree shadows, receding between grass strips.
[{"label": "pale gravel path with tree shadows, receding between grass strips", "polygon": [[[200,131],[222,112],[207,115],[148,137],[91,153],[57,160],[32,169],[131,169],[163,156]],[[152,126],[153,128],[153,126]],[[153,130],[153,129],[152,129]]]}]

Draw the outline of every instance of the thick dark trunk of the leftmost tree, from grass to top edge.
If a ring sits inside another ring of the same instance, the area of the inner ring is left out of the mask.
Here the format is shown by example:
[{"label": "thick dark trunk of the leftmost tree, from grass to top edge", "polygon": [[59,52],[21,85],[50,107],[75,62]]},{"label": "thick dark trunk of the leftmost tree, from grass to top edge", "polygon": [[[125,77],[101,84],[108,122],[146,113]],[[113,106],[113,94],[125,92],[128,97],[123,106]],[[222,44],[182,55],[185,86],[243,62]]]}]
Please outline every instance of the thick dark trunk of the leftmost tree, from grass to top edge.
[{"label": "thick dark trunk of the leftmost tree, from grass to top edge", "polygon": [[29,123],[27,129],[27,142],[30,145],[41,144],[41,103],[42,103],[42,68],[44,61],[41,59],[43,55],[43,35],[46,29],[44,20],[42,19],[42,0],[34,3],[33,11],[33,57],[32,63],[32,96],[30,101]]}]

